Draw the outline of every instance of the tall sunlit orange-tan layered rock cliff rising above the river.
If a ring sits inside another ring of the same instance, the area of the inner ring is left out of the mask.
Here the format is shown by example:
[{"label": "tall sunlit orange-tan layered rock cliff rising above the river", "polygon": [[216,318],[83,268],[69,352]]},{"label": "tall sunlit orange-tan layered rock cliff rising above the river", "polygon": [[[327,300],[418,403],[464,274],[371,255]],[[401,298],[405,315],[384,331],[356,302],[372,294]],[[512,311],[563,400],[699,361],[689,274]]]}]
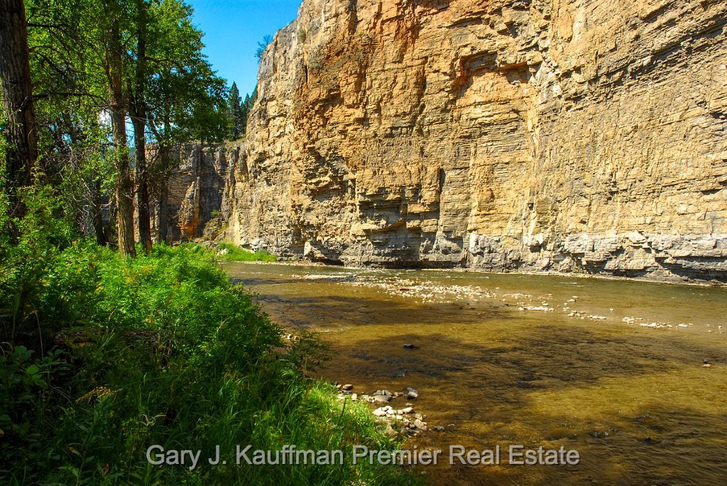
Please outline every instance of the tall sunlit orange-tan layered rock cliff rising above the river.
[{"label": "tall sunlit orange-tan layered rock cliff rising above the river", "polygon": [[727,2],[305,0],[229,234],[345,264],[727,280]]}]

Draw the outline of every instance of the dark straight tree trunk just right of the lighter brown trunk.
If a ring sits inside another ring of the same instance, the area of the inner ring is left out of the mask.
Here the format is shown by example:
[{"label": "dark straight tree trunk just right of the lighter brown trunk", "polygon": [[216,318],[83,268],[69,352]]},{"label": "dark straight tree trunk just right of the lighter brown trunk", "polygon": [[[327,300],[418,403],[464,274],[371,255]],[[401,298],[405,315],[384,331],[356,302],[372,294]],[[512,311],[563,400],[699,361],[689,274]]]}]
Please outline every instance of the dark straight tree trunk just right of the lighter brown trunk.
[{"label": "dark straight tree trunk just right of the lighter brown trunk", "polygon": [[139,240],[147,253],[151,251],[151,222],[149,216],[149,170],[146,162],[146,2],[137,0],[137,65],[134,96],[132,97],[132,125],[134,151],[137,163],[137,208],[139,212]]}]

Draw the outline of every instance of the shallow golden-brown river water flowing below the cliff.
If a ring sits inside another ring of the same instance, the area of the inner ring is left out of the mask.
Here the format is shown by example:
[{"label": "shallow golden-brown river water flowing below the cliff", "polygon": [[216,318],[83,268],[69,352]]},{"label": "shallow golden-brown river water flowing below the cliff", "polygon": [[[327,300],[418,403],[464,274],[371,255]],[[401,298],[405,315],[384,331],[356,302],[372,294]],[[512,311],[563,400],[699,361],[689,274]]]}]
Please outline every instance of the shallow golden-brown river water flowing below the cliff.
[{"label": "shallow golden-brown river water flowing below the cliff", "polygon": [[[443,427],[406,442],[445,451],[438,466],[417,468],[430,484],[727,485],[727,288],[284,264],[225,269],[259,294],[274,321],[330,344],[321,376],[359,393],[418,390],[414,408],[430,427]],[[500,464],[450,465],[450,445],[499,445]],[[510,445],[564,446],[580,461],[510,465]]]}]

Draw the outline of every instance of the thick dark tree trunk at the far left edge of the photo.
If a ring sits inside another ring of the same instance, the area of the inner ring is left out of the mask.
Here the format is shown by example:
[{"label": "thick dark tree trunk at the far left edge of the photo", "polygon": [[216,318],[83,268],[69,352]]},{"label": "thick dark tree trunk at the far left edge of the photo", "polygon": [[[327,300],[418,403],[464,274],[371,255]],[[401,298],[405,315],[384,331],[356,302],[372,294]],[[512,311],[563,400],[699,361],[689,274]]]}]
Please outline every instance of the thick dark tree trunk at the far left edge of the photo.
[{"label": "thick dark tree trunk at the far left edge of the photo", "polygon": [[38,158],[28,25],[23,0],[2,0],[0,3],[0,78],[3,110],[7,117],[5,161],[10,211],[22,216],[25,208],[17,201],[17,190],[30,184],[33,164]]}]

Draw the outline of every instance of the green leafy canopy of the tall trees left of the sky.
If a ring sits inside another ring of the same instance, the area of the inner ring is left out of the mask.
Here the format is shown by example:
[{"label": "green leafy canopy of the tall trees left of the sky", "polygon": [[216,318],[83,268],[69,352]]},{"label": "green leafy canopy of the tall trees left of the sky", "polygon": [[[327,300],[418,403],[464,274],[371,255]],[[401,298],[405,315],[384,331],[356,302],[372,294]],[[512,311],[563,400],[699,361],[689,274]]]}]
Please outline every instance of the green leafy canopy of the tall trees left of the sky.
[{"label": "green leafy canopy of the tall trees left of the sky", "polygon": [[103,241],[101,208],[123,175],[116,173],[110,143],[111,25],[118,25],[124,48],[123,98],[145,107],[134,119],[144,118],[148,141],[165,149],[145,164],[152,197],[177,164],[172,147],[225,137],[226,82],[202,52],[203,33],[184,1],[26,0],[25,7],[41,153],[36,179],[55,186],[63,211],[84,235]]}]

